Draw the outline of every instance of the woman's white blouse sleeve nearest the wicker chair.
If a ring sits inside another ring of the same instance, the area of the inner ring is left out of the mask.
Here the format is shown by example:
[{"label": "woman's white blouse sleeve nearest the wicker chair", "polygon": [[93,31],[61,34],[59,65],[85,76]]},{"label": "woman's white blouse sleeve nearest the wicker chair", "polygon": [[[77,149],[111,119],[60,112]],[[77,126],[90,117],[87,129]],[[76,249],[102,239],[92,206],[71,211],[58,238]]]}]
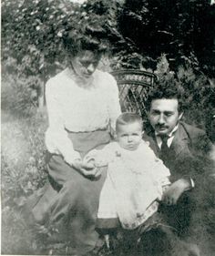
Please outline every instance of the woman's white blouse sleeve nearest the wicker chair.
[{"label": "woman's white blouse sleeve nearest the wicker chair", "polygon": [[121,108],[119,104],[119,92],[118,84],[114,77],[108,74],[109,82],[109,98],[108,98],[108,113],[110,118],[110,127],[115,130],[116,120],[121,114]]}]

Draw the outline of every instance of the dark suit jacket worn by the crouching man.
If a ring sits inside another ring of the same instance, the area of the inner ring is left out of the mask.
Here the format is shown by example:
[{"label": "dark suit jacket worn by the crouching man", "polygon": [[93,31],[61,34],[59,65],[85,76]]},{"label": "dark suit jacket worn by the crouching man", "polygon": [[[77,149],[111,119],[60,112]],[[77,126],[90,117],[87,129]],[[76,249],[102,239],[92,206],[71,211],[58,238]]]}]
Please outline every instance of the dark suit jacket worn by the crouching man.
[{"label": "dark suit jacket worn by the crouching man", "polygon": [[[144,132],[143,139],[149,142],[150,148],[159,157],[159,147],[152,128]],[[193,219],[193,213],[209,209],[206,199],[210,198],[211,201],[213,198],[211,195],[214,194],[215,182],[210,178],[211,173],[214,172],[214,163],[209,158],[211,148],[212,143],[203,130],[184,122],[179,123],[179,128],[169,147],[168,160],[165,161],[165,165],[170,170],[171,182],[191,178],[195,187],[184,192],[177,205],[171,207],[161,205],[160,210],[165,212],[169,225],[178,230],[181,236],[192,232],[190,227],[193,224],[190,224],[190,221]],[[199,220],[198,218],[198,222]],[[196,227],[196,223],[194,226]]]}]

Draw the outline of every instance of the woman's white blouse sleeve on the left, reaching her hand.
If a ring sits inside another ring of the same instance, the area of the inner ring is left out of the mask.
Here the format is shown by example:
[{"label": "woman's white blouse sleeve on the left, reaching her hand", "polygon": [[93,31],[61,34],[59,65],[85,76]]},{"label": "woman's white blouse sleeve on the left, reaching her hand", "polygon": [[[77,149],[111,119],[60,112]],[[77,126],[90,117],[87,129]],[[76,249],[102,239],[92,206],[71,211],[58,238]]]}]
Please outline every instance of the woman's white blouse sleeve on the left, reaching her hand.
[{"label": "woman's white blouse sleeve on the left, reaching her hand", "polygon": [[53,78],[47,81],[46,108],[49,127],[46,130],[46,148],[50,153],[60,154],[71,163],[74,159],[80,159],[80,155],[74,150],[72,141],[67,137],[58,88]]}]

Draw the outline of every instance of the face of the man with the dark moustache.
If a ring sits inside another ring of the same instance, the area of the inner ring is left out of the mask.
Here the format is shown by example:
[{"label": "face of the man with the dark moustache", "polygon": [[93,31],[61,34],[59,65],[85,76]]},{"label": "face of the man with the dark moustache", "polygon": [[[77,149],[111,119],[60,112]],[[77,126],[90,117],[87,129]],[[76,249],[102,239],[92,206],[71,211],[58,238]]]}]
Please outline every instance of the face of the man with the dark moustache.
[{"label": "face of the man with the dark moustache", "polygon": [[161,98],[152,100],[148,118],[159,135],[169,135],[182,115],[177,98]]}]

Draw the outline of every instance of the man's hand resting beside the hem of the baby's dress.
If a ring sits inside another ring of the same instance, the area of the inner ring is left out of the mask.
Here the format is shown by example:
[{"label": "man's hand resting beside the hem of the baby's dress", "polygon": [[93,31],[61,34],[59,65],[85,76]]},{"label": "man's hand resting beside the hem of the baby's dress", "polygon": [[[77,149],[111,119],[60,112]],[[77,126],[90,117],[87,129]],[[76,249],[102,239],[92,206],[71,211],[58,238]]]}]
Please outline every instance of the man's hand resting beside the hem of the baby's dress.
[{"label": "man's hand resting beside the hem of the baby's dress", "polygon": [[179,197],[184,191],[190,188],[189,180],[187,179],[178,179],[169,186],[162,197],[163,203],[167,205],[177,204]]}]

